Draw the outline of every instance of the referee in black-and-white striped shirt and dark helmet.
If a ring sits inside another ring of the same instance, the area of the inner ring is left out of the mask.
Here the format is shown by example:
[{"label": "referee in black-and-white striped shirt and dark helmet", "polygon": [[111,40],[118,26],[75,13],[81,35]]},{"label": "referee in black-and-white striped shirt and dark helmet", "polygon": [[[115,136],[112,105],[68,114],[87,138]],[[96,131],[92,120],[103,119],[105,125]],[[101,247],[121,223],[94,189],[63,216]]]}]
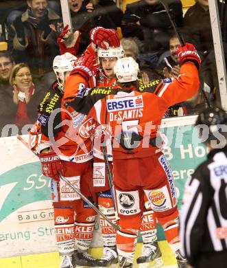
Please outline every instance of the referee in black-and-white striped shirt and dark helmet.
[{"label": "referee in black-and-white striped shirt and dark helmet", "polygon": [[[209,148],[187,180],[180,210],[184,256],[194,268],[227,267],[227,114],[208,108],[195,123]],[[189,266],[190,267],[190,266]]]}]

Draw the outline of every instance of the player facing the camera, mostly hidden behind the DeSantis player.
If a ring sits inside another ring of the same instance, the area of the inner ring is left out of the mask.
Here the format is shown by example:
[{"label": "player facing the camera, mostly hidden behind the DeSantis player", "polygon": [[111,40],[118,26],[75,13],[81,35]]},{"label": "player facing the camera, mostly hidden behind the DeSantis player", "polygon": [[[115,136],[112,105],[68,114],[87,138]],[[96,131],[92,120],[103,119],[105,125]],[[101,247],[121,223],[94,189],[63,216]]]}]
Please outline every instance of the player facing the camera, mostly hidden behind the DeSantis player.
[{"label": "player facing the camera, mostly hidden behind the DeSantis player", "polygon": [[[74,33],[75,35],[76,33]],[[111,34],[111,35],[110,35]],[[66,48],[62,42],[62,38],[65,39],[69,35],[68,27],[64,28],[64,32],[58,38],[60,42],[60,48],[70,49],[70,52],[75,53],[76,45],[73,47]],[[103,37],[104,36],[104,37]],[[103,38],[104,41],[101,41]],[[114,72],[114,66],[117,63],[117,58],[122,58],[124,51],[121,46],[117,43],[117,33],[113,30],[104,29],[102,27],[95,27],[91,30],[91,45],[86,49],[85,54],[91,54],[97,51],[97,57],[99,61],[99,71],[97,72],[97,86],[98,87],[117,87],[117,79]],[[112,46],[109,46],[109,43]],[[76,43],[75,43],[76,44]],[[101,47],[97,47],[100,45]],[[106,49],[108,47],[108,49]],[[96,140],[96,139],[95,139]],[[93,185],[92,182],[88,183],[91,191],[94,194],[95,200],[99,204],[99,209],[106,214],[112,221],[116,221],[116,216],[114,213],[114,208],[112,204],[112,196],[109,189],[107,174],[105,172],[104,157],[102,154],[101,146],[96,146],[94,142],[93,155]],[[110,145],[110,143],[108,143]],[[112,166],[112,151],[110,146],[107,147],[108,160],[110,161],[110,168]],[[152,212],[150,205],[148,205],[147,198],[145,197],[146,210],[144,212],[143,221],[141,224],[141,236],[143,236],[143,253],[142,256],[137,259],[137,263],[149,263],[150,261],[156,259],[158,264],[162,263],[160,259],[161,253],[156,241],[156,218]],[[116,231],[112,226],[110,226],[104,219],[101,218],[101,233],[104,240],[104,254],[101,260],[99,260],[98,265],[102,267],[107,267],[112,263],[116,263]]]}]

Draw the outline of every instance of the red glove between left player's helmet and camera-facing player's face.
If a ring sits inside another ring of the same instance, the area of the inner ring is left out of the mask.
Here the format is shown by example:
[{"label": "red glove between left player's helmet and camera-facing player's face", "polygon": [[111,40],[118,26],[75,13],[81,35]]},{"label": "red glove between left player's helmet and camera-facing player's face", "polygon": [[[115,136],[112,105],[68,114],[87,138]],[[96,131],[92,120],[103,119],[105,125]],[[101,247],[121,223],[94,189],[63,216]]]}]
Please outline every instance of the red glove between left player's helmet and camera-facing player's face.
[{"label": "red glove between left player's helmet and camera-facing player's face", "polygon": [[[95,76],[99,69],[99,65],[96,61],[96,54],[88,54],[77,58],[74,65],[75,67],[73,71],[71,71],[71,74],[80,74],[88,81]],[[89,87],[93,87],[93,85],[89,85]]]}]

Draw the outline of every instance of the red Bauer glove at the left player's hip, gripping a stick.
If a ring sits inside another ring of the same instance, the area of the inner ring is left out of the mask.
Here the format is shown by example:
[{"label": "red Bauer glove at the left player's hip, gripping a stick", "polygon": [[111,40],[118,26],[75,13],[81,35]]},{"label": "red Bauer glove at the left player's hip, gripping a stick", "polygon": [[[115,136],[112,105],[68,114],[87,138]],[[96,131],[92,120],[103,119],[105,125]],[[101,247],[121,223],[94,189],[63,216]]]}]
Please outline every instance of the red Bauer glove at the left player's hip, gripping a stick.
[{"label": "red Bauer glove at the left player's hip, gripping a stick", "polygon": [[62,172],[63,166],[58,155],[52,151],[50,153],[40,153],[38,157],[41,162],[43,175],[59,181],[58,172]]}]

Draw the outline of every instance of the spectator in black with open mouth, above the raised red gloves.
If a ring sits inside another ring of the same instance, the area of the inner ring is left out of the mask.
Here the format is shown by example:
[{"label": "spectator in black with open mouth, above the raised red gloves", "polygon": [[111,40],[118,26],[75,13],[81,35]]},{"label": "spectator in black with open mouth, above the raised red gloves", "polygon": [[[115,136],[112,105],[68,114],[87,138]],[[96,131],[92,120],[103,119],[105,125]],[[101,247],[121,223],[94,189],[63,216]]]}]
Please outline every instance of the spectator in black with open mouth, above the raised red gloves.
[{"label": "spectator in black with open mouth, above the raised red gloves", "polygon": [[80,30],[80,48],[78,54],[84,52],[90,43],[89,32],[93,27],[101,26],[117,29],[121,26],[123,12],[112,0],[93,1],[69,0],[73,30]]}]

